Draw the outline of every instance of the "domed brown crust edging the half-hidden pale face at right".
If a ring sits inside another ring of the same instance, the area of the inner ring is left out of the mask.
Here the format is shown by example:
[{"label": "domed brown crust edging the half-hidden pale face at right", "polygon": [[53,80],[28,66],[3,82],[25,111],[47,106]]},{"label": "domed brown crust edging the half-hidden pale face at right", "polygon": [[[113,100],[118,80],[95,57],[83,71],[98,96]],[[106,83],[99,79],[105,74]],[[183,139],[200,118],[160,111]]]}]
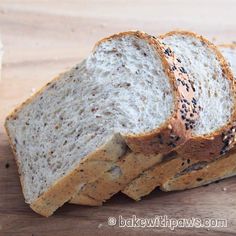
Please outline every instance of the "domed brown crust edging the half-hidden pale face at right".
[{"label": "domed brown crust edging the half-hidden pale face at right", "polygon": [[232,71],[224,59],[221,52],[218,48],[212,44],[210,41],[205,39],[201,35],[197,35],[193,32],[188,31],[172,31],[167,34],[160,36],[161,39],[172,35],[187,35],[194,38],[197,38],[202,43],[207,45],[216,55],[218,58],[220,65],[222,67],[222,72],[226,79],[231,81],[230,88],[234,102],[233,113],[231,116],[231,120],[223,127],[217,129],[216,131],[204,135],[204,136],[197,136],[191,137],[191,139],[187,140],[185,145],[179,146],[177,148],[178,154],[185,158],[197,158],[200,160],[212,160],[216,159],[217,157],[227,153],[231,148],[234,147],[235,144],[235,136],[236,136],[236,82],[233,78]]}]

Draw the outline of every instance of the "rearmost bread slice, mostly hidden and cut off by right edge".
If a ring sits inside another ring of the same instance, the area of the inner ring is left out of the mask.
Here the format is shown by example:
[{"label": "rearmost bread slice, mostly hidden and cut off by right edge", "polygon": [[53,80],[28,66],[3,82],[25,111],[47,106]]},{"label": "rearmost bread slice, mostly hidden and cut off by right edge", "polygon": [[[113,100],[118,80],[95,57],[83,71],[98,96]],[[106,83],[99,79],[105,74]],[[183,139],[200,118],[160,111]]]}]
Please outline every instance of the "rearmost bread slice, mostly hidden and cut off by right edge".
[{"label": "rearmost bread slice, mostly hidden and cut off by right edge", "polygon": [[[233,74],[236,75],[236,46],[222,45],[219,49],[229,62]],[[163,181],[161,188],[164,191],[191,189],[234,175],[236,175],[236,154],[232,151],[210,163],[196,163],[180,172],[175,172],[171,178]]]}]

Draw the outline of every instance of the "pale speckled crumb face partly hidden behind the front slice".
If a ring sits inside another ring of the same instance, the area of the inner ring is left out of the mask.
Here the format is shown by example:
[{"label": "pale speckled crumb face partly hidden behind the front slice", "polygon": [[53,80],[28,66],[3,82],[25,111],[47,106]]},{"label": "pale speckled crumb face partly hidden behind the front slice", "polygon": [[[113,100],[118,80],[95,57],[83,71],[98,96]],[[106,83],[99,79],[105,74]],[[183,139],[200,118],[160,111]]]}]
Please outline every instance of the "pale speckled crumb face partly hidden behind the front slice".
[{"label": "pale speckled crumb face partly hidden behind the front slice", "polygon": [[232,116],[234,100],[231,81],[225,78],[216,53],[189,34],[167,34],[163,42],[178,55],[196,89],[195,98],[201,111],[193,135],[209,135],[224,126]]}]

